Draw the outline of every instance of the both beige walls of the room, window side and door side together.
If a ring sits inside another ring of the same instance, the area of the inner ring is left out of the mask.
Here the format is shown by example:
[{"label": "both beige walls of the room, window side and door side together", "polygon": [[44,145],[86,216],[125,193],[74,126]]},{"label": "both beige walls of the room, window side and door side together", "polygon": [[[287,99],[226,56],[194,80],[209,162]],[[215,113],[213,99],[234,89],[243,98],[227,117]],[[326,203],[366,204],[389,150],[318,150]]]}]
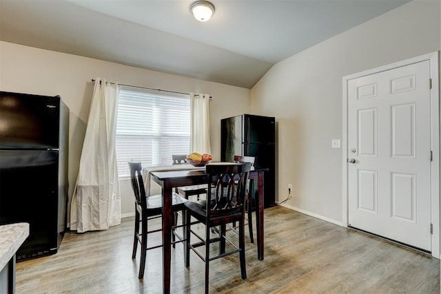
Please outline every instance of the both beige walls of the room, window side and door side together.
[{"label": "both beige walls of the room, window side and door side together", "polygon": [[[60,95],[70,107],[70,198],[85,134],[91,78],[178,92],[204,92],[210,103],[212,153],[220,159],[220,118],[276,116],[278,200],[293,185],[289,207],[342,221],[342,77],[440,50],[440,0],[414,0],[281,61],[250,90],[82,56],[0,42],[0,90]],[[250,103],[251,95],[251,103]],[[121,181],[123,214],[132,211]],[[129,194],[129,196],[127,196]],[[126,201],[124,201],[126,200]]]}]

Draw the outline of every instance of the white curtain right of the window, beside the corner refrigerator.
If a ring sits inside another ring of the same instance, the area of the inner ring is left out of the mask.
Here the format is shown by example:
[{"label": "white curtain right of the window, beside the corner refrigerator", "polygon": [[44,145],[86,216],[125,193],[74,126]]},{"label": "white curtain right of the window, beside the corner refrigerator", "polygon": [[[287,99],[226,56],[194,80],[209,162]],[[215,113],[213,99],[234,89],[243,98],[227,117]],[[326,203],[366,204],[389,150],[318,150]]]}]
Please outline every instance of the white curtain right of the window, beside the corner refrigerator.
[{"label": "white curtain right of the window, beside the corner refrigerator", "polygon": [[212,153],[209,143],[209,94],[190,93],[192,129],[190,132],[190,151],[200,154]]}]

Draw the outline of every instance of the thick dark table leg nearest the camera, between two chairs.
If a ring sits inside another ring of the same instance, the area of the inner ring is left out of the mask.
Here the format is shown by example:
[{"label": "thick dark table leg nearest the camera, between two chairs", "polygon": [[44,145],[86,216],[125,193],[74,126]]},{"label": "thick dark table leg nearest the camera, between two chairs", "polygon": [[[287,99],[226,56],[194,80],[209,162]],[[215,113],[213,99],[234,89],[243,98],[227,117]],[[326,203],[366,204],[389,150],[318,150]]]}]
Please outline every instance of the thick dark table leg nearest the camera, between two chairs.
[{"label": "thick dark table leg nearest the camera, between two chairs", "polygon": [[172,259],[172,187],[163,187],[163,293],[170,293],[170,261]]}]

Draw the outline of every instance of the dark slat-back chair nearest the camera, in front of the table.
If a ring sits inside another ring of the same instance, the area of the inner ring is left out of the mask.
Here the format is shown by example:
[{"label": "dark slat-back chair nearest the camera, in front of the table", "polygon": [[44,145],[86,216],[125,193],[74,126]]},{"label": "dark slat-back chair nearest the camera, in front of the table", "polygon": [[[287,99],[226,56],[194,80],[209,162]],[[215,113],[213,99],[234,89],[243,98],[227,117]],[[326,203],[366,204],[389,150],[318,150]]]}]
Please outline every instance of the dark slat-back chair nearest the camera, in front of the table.
[{"label": "dark slat-back chair nearest the camera, in front of the table", "polygon": [[[189,251],[192,250],[205,262],[205,293],[209,290],[209,262],[226,255],[239,253],[240,275],[243,280],[247,278],[245,264],[245,193],[249,170],[251,164],[243,163],[241,165],[207,165],[208,190],[212,191],[211,198],[208,200],[199,200],[197,202],[186,202],[187,207],[187,246],[185,265],[189,267]],[[191,217],[196,221],[190,222]],[[225,232],[226,224],[238,222],[238,244],[227,238]],[[192,229],[195,224],[205,224],[205,236],[199,235]],[[216,238],[210,238],[211,228],[220,227],[220,233]],[[191,242],[191,235],[196,236],[198,242]],[[210,257],[209,244],[218,243],[219,253]],[[225,242],[232,244],[232,250],[225,252]],[[196,248],[205,246],[205,253],[200,253]]]}]

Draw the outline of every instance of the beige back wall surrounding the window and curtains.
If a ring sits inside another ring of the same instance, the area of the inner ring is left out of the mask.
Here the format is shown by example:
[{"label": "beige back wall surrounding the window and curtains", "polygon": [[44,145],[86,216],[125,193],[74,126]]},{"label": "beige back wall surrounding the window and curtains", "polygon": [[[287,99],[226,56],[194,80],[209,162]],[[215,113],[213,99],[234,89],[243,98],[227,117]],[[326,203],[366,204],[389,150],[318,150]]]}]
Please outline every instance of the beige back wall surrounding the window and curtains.
[{"label": "beige back wall surrounding the window and curtains", "polygon": [[[249,112],[249,89],[0,42],[1,91],[60,95],[70,108],[70,199],[88,121],[93,91],[91,79],[97,76],[127,85],[211,94],[210,129],[214,160],[220,160],[220,118]],[[127,180],[121,181],[121,196],[125,215],[134,210]]]}]

